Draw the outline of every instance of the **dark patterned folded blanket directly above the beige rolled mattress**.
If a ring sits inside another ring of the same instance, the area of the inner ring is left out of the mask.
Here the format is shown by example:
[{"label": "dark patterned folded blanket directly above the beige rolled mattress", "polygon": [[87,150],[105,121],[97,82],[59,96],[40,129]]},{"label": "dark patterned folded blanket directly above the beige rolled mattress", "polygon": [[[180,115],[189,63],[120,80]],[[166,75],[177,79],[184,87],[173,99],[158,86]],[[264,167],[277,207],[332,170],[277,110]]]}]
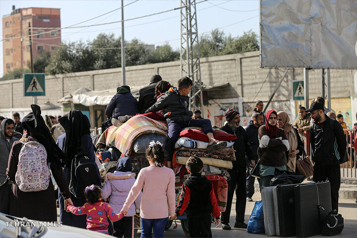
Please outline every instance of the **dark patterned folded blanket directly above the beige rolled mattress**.
[{"label": "dark patterned folded blanket directly above the beige rolled mattress", "polygon": [[[221,153],[222,151],[222,153]],[[192,148],[179,148],[175,152],[177,156],[198,156],[198,157],[207,157],[219,160],[228,160],[228,161],[235,161],[236,158],[233,156],[234,150],[232,148],[225,148],[220,151],[207,151],[205,149],[192,149]]]}]

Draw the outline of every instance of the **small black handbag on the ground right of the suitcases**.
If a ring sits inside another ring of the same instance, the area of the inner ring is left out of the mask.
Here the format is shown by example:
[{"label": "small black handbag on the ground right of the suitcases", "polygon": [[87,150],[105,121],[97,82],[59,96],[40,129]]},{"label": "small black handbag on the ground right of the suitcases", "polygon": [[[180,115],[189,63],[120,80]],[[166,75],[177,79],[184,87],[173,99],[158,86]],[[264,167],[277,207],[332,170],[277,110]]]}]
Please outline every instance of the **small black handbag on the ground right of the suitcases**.
[{"label": "small black handbag on the ground right of the suitcases", "polygon": [[322,227],[322,236],[335,236],[341,234],[344,229],[344,220],[337,210],[332,210],[326,216],[326,220]]}]

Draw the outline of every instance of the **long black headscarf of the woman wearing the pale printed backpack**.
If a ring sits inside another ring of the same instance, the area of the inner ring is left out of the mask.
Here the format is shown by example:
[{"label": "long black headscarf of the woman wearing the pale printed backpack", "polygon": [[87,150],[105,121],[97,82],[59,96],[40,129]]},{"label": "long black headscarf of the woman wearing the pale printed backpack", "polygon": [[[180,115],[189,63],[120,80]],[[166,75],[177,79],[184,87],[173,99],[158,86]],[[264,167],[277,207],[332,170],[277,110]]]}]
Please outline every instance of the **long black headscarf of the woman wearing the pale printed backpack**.
[{"label": "long black headscarf of the woman wearing the pale printed backpack", "polygon": [[56,145],[49,128],[45,124],[45,120],[41,116],[41,108],[33,104],[31,105],[31,110],[32,112],[23,117],[21,125],[27,134],[34,137],[45,147],[47,161],[60,166],[60,161],[64,161],[66,157],[60,150],[60,147]]}]

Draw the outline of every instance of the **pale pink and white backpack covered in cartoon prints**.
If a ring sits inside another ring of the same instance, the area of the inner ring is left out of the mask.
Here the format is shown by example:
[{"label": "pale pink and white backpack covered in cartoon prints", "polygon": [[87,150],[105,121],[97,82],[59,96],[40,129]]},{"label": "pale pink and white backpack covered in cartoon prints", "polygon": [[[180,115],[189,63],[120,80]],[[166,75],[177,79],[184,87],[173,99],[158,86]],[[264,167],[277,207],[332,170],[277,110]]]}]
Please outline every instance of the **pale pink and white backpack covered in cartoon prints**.
[{"label": "pale pink and white backpack covered in cartoon prints", "polygon": [[51,172],[47,165],[45,147],[37,141],[24,143],[17,164],[15,181],[23,192],[46,190],[50,183]]}]

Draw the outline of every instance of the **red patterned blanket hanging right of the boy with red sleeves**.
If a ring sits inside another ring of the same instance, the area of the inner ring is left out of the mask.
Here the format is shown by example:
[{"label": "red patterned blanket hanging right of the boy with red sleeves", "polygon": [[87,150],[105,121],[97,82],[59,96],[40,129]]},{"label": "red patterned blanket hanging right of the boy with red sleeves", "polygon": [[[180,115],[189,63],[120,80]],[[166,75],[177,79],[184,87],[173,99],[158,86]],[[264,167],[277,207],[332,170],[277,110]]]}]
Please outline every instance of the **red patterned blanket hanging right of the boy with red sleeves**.
[{"label": "red patterned blanket hanging right of the boy with red sleeves", "polygon": [[212,182],[213,190],[215,192],[220,211],[225,212],[227,207],[228,194],[227,181],[223,177],[218,175],[207,175],[206,178]]}]

